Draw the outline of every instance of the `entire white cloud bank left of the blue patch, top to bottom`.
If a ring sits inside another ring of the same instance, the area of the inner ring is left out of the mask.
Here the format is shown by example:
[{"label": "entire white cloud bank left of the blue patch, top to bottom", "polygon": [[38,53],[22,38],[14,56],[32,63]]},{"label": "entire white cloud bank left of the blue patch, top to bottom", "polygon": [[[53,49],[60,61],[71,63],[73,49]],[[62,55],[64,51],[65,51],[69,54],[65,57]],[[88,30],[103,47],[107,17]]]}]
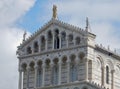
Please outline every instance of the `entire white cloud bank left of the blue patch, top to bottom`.
[{"label": "entire white cloud bank left of the blue patch, top to bottom", "polygon": [[0,0],[0,89],[18,88],[16,50],[24,29],[15,27],[15,22],[34,3],[35,0]]}]

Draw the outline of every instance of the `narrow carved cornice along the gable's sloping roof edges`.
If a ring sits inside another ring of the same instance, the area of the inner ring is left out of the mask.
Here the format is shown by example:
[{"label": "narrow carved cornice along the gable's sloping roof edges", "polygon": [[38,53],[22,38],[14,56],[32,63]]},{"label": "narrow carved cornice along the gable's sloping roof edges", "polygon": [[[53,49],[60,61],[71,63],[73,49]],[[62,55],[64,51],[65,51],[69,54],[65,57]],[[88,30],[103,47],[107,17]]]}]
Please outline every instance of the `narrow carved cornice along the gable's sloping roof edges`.
[{"label": "narrow carved cornice along the gable's sloping roof edges", "polygon": [[[38,34],[40,34],[42,31],[44,31],[46,29],[46,27],[50,26],[51,24],[56,24],[59,23],[58,25],[63,25],[65,28],[70,28],[71,30],[73,29],[76,32],[83,32],[84,34],[86,33],[85,29],[79,28],[77,26],[65,23],[63,21],[60,21],[58,19],[54,19],[52,18],[50,21],[48,21],[45,25],[43,25],[41,28],[39,28],[36,32],[34,32],[31,36],[29,36],[23,43],[20,44],[20,46],[18,47],[23,47],[24,45],[26,45],[28,42],[30,42],[32,39],[34,39],[36,36],[38,36]],[[89,34],[96,36],[95,34],[88,32]]]}]

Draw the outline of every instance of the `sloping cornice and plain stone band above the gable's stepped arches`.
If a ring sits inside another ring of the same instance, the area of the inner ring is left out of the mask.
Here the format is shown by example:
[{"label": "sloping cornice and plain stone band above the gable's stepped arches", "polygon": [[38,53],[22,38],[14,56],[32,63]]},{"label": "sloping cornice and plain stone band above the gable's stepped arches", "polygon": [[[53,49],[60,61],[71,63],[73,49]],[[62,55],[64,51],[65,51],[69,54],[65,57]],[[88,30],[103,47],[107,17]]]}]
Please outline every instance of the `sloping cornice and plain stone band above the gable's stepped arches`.
[{"label": "sloping cornice and plain stone band above the gable's stepped arches", "polygon": [[45,25],[43,25],[41,28],[39,28],[35,33],[33,33],[29,38],[27,38],[20,46],[24,47],[29,42],[31,42],[36,37],[38,37],[40,34],[44,33],[46,30],[51,29],[51,28],[55,29],[57,27],[61,27],[61,28],[64,28],[64,30],[69,30],[71,32],[76,32],[76,33],[79,33],[82,35],[84,35],[84,33],[86,32],[85,30],[83,30],[79,27],[70,25],[68,23],[64,23],[57,19],[51,19],[49,22],[47,22]]}]

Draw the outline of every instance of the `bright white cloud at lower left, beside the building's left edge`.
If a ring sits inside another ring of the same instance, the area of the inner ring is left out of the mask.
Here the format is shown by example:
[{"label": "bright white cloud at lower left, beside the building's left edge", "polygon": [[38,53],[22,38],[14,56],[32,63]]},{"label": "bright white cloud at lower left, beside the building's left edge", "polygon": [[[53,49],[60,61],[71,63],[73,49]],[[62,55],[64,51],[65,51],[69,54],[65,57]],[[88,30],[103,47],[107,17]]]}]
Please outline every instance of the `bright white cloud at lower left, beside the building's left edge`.
[{"label": "bright white cloud at lower left, beside the building's left edge", "polygon": [[23,31],[16,28],[0,30],[0,89],[16,89],[18,85],[18,59],[15,55]]}]

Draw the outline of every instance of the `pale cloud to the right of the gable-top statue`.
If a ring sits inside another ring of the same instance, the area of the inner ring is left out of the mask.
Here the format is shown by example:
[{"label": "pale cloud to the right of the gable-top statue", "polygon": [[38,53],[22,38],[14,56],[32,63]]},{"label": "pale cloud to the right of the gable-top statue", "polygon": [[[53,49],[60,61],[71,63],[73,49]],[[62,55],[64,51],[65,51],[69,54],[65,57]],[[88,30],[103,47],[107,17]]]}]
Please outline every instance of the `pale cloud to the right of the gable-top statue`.
[{"label": "pale cloud to the right of the gable-top statue", "polygon": [[[120,48],[120,36],[115,35],[119,35],[120,27],[114,24],[120,22],[120,0],[51,1],[58,6],[58,17],[63,18],[63,21],[67,18],[68,23],[84,28],[85,18],[89,17],[92,32],[97,35],[97,43]],[[47,7],[52,6],[52,3]]]}]

